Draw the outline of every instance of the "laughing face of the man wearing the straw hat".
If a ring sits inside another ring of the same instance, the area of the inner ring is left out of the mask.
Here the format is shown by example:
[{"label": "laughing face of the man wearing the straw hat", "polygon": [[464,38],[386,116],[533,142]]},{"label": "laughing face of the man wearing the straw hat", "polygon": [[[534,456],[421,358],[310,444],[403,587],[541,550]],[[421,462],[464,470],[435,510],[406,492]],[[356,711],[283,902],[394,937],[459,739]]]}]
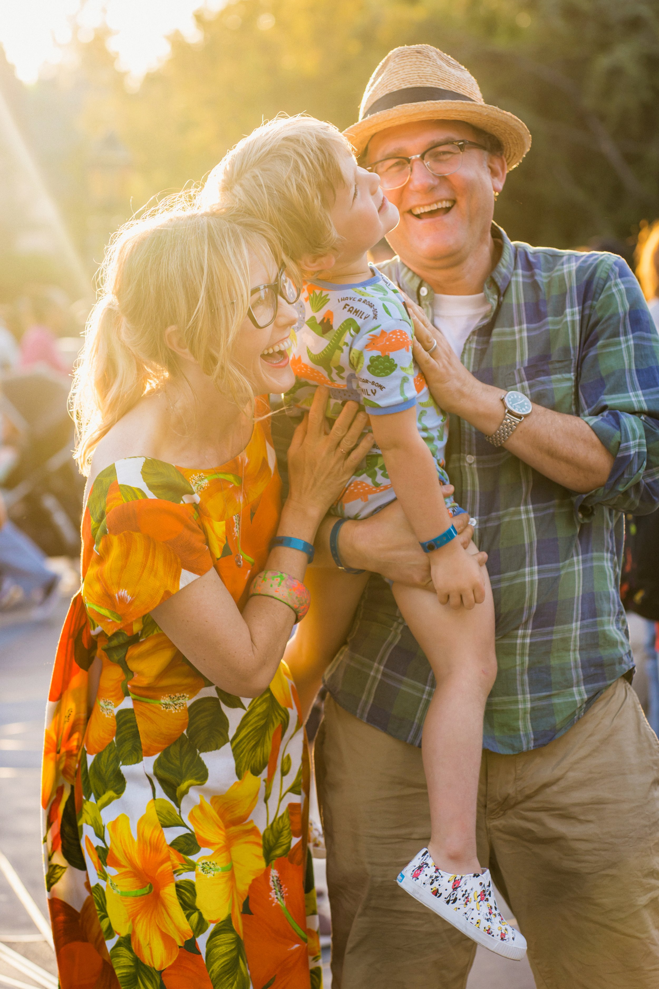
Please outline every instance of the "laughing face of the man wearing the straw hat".
[{"label": "laughing face of the man wearing the straw hat", "polygon": [[[478,142],[478,133],[461,121],[401,124],[371,137],[366,164],[421,154],[451,140]],[[484,241],[489,243],[493,194],[503,188],[505,179],[505,159],[477,148],[465,148],[453,175],[433,175],[422,161],[414,161],[409,181],[400,189],[385,190],[400,213],[400,223],[387,240],[420,273],[435,265],[464,262]]]}]

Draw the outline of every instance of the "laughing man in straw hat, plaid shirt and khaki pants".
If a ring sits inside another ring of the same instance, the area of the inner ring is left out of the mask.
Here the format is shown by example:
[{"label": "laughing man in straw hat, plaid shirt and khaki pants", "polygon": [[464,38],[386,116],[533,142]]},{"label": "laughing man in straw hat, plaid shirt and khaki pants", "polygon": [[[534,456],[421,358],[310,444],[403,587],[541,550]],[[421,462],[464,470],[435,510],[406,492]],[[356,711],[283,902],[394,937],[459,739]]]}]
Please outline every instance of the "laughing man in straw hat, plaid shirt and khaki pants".
[{"label": "laughing man in straw hat, plaid shirt and khaki pants", "polygon": [[[449,475],[489,555],[499,673],[481,864],[515,912],[538,987],[649,989],[659,744],[629,686],[618,579],[621,513],[659,498],[656,331],[620,259],[512,243],[492,224],[530,135],[450,56],[390,52],[347,134],[400,211],[388,236],[399,257],[380,268],[423,308],[432,354],[417,346],[417,360],[451,413]],[[429,154],[437,145],[453,157]],[[334,566],[333,525],[317,565]],[[334,549],[349,568],[428,580],[395,503],[347,522]],[[325,683],[315,764],[333,986],[464,987],[475,945],[394,882],[430,833],[418,747],[434,681],[379,576]]]}]

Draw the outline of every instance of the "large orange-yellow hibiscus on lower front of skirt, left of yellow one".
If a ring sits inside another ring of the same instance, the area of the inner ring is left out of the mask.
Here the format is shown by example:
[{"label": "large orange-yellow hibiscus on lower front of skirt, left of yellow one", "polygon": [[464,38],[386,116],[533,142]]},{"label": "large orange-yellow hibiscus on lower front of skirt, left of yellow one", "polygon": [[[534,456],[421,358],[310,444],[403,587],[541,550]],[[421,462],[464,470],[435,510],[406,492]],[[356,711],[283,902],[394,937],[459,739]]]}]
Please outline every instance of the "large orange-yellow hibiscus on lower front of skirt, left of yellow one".
[{"label": "large orange-yellow hibiscus on lower front of skirt, left of yellow one", "polygon": [[130,923],[130,943],[144,964],[166,968],[193,933],[176,896],[169,849],[153,800],[132,837],[125,814],[108,825],[108,885],[121,897]]}]

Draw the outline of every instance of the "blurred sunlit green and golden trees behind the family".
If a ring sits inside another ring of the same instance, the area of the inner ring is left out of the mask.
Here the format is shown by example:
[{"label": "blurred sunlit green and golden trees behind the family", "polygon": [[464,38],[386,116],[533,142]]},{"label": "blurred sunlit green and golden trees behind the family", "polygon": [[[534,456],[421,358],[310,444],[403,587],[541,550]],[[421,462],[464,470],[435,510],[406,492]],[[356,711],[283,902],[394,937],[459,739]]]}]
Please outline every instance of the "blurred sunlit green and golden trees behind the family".
[{"label": "blurred sunlit green and golden trees behind the family", "polygon": [[238,0],[198,22],[202,41],[174,37],[136,92],[97,35],[22,97],[79,243],[93,212],[86,156],[108,130],[130,154],[127,216],[200,182],[281,111],[346,127],[380,58],[421,42],[465,64],[533,134],[497,206],[513,237],[574,246],[659,216],[659,0]]}]

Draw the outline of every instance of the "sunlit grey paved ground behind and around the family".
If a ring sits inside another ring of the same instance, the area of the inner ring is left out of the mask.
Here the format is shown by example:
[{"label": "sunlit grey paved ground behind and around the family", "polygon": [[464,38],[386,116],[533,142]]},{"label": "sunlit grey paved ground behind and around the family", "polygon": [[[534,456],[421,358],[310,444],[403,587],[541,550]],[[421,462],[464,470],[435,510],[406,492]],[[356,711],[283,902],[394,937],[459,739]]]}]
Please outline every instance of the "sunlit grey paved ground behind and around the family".
[{"label": "sunlit grey paved ground behind and around the family", "polygon": [[[65,613],[66,602],[62,601],[41,625],[24,622],[0,627],[0,851],[10,859],[46,916],[41,871],[41,736],[50,668]],[[632,639],[635,630],[632,616]],[[642,686],[642,676],[639,679]],[[322,904],[324,863],[317,865]],[[19,951],[46,971],[56,971],[50,948],[40,940],[36,927],[2,874],[0,943]],[[329,946],[323,954],[328,961]],[[0,987],[11,984],[3,982],[2,976],[30,986],[36,984],[29,975],[17,972],[0,958]],[[330,986],[326,964],[325,989]],[[535,989],[535,982],[527,961],[506,961],[478,948],[467,989]]]}]

